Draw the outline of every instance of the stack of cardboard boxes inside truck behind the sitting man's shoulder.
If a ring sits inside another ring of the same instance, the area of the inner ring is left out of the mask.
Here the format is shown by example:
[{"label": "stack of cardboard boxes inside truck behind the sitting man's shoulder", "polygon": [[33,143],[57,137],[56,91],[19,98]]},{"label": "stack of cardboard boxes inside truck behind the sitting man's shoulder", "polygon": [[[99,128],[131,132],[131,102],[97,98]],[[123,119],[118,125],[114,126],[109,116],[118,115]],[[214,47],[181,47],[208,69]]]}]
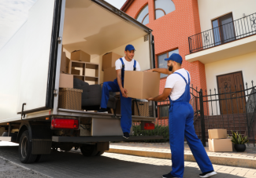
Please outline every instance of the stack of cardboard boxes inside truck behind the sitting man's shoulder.
[{"label": "stack of cardboard boxes inside truck behind the sitting man's shoulder", "polygon": [[102,56],[102,71],[104,71],[103,82],[113,81],[117,78],[117,71],[115,67],[116,60],[122,56],[116,53],[106,53]]}]

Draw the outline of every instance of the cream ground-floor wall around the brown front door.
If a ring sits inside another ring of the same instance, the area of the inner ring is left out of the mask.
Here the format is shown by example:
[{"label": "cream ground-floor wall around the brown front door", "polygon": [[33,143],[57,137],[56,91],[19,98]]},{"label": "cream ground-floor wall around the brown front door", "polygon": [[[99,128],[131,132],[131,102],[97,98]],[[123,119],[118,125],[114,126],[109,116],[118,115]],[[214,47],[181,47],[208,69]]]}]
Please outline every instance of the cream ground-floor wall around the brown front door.
[{"label": "cream ground-floor wall around the brown front door", "polygon": [[[226,60],[220,60],[211,64],[206,64],[205,67],[206,67],[206,85],[207,85],[208,93],[210,92],[210,89],[212,90],[212,94],[214,93],[214,89],[216,89],[216,92],[217,92],[217,76],[218,75],[229,74],[236,71],[242,71],[243,85],[245,89],[246,89],[246,83],[248,84],[248,88],[251,87],[252,80],[254,81],[254,85],[256,85],[256,53],[248,53],[242,56],[236,56],[236,57],[228,58]],[[211,113],[211,107],[209,109]],[[217,109],[218,109],[218,114],[220,114],[218,102],[217,102]],[[217,114],[216,103],[213,103],[213,114]]]}]

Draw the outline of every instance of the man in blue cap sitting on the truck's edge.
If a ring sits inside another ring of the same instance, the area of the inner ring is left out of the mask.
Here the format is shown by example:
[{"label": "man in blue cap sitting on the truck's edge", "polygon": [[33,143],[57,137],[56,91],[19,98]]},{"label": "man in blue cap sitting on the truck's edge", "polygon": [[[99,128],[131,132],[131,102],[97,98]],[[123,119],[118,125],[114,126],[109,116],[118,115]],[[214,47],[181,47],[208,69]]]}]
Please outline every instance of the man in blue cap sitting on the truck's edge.
[{"label": "man in blue cap sitting on the truck's edge", "polygon": [[124,71],[140,71],[139,63],[133,59],[135,48],[133,45],[126,45],[124,57],[116,61],[117,79],[113,82],[104,82],[102,85],[101,109],[98,112],[107,112],[109,92],[120,92],[121,96],[121,128],[124,138],[129,138],[132,127],[132,98],[126,95],[124,89]]}]

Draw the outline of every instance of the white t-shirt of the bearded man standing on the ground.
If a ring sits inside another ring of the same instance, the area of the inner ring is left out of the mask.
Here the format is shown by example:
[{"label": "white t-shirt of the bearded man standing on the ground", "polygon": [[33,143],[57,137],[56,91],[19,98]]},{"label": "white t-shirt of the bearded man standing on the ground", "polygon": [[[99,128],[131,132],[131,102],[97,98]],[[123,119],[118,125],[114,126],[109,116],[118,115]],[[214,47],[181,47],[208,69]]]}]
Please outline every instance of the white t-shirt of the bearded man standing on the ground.
[{"label": "white t-shirt of the bearded man standing on the ground", "polygon": [[[187,71],[184,68],[181,68],[175,72],[180,73],[182,76],[184,76],[184,78],[186,78],[186,80],[188,80]],[[180,76],[180,74],[170,74],[166,79],[165,88],[172,89],[172,93],[170,94],[172,100],[178,100],[186,89],[186,82],[184,81],[184,78]],[[190,74],[189,78],[191,78]]]}]

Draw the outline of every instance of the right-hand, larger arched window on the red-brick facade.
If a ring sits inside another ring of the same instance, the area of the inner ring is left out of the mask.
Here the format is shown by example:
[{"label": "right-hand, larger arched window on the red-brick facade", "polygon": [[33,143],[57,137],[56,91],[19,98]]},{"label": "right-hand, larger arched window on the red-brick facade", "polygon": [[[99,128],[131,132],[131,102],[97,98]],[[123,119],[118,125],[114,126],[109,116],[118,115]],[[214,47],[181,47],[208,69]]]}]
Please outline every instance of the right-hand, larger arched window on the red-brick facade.
[{"label": "right-hand, larger arched window on the red-brick facade", "polygon": [[172,0],[154,0],[155,19],[172,13],[175,10],[175,5]]}]

